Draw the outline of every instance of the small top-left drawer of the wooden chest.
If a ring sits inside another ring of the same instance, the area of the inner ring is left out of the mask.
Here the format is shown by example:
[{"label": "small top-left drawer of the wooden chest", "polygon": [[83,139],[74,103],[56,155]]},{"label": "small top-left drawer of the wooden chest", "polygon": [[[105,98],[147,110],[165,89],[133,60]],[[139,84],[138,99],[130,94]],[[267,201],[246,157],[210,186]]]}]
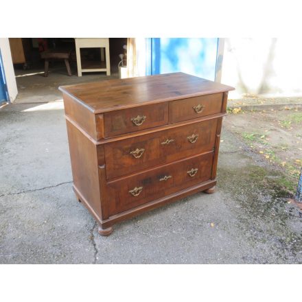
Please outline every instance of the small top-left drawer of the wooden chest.
[{"label": "small top-left drawer of the wooden chest", "polygon": [[104,114],[105,137],[163,126],[168,122],[168,104],[153,104]]}]

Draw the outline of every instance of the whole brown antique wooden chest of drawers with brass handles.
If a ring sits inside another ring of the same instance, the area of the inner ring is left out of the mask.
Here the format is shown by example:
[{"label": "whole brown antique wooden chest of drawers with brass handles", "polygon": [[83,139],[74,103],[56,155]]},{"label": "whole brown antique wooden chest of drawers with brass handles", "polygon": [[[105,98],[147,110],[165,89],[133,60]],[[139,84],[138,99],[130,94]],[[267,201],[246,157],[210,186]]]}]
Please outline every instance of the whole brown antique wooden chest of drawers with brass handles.
[{"label": "whole brown antique wooden chest of drawers with brass handles", "polygon": [[167,73],[60,90],[73,189],[100,234],[167,202],[213,192],[232,87]]}]

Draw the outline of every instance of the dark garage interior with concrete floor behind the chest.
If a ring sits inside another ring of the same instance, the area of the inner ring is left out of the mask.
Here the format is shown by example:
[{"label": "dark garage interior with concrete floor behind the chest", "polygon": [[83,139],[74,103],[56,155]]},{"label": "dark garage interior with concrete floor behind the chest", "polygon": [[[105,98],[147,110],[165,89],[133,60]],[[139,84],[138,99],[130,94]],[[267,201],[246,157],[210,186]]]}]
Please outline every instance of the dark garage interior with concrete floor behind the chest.
[{"label": "dark garage interior with concrete floor behind the chest", "polygon": [[[10,49],[18,95],[16,104],[53,102],[62,100],[58,86],[94,82],[119,78],[119,62],[123,54],[126,58],[127,38],[108,38],[111,75],[106,71],[85,72],[78,76],[75,38],[10,38]],[[69,54],[71,76],[63,59],[49,60],[49,73],[45,76],[45,59],[43,53],[64,51]],[[100,47],[80,49],[80,60],[84,68],[104,68],[106,65],[105,51]]]}]

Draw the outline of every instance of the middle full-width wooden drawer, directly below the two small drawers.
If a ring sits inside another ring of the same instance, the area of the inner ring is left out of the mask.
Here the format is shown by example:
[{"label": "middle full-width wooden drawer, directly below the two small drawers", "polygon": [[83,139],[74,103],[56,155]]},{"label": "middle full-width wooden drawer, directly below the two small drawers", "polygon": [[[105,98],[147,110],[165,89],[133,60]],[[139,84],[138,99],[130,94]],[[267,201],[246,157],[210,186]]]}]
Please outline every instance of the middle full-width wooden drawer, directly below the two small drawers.
[{"label": "middle full-width wooden drawer, directly below the two small drawers", "polygon": [[213,150],[217,121],[209,119],[106,143],[107,179]]}]

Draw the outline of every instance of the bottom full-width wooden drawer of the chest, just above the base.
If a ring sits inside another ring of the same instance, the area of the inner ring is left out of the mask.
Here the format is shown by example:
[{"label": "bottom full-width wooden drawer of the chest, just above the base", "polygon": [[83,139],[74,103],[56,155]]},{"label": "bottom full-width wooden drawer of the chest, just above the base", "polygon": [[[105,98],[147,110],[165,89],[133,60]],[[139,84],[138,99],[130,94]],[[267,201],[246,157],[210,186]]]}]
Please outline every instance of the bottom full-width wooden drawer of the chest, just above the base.
[{"label": "bottom full-width wooden drawer of the chest, just above the base", "polygon": [[107,183],[110,216],[211,178],[213,152]]}]

